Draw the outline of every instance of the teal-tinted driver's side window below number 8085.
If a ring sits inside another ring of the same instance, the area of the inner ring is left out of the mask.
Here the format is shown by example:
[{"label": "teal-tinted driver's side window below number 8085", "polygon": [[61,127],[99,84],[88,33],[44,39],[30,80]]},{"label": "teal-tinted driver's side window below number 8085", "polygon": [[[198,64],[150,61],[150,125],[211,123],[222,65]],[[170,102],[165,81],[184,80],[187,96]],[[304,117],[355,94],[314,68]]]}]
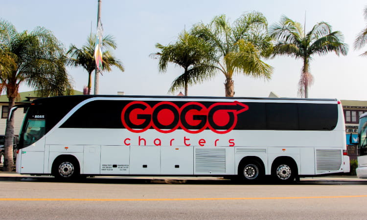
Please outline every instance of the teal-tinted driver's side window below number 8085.
[{"label": "teal-tinted driver's side window below number 8085", "polygon": [[23,133],[23,146],[29,146],[45,135],[45,119],[29,119]]}]

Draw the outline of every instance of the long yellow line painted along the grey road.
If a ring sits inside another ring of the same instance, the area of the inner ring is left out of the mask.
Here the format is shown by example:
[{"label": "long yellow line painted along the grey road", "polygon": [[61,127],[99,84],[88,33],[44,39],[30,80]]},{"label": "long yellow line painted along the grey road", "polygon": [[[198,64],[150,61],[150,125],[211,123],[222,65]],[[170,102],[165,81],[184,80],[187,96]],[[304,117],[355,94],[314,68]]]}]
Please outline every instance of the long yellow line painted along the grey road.
[{"label": "long yellow line painted along the grey road", "polygon": [[325,197],[259,197],[259,198],[0,198],[0,201],[197,201],[197,200],[262,200],[262,199],[300,199],[300,198],[362,198],[359,196]]}]

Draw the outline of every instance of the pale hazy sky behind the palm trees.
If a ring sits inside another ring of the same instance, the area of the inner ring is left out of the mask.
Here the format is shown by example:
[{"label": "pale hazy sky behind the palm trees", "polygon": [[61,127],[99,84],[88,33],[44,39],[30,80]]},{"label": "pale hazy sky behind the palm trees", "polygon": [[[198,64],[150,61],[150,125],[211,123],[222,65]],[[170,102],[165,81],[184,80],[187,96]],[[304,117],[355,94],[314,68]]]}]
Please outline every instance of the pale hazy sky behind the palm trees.
[{"label": "pale hazy sky behind the palm trees", "polygon": [[[96,32],[98,0],[0,0],[0,18],[15,25],[18,32],[36,26],[51,30],[66,50],[70,44],[81,47]],[[367,26],[363,0],[102,0],[103,34],[113,35],[117,43],[113,51],[123,63],[125,72],[113,68],[99,78],[99,94],[170,95],[168,89],[183,69],[170,65],[165,73],[158,71],[158,60],[149,55],[159,50],[155,44],[174,43],[184,29],[193,24],[210,22],[215,16],[226,15],[234,22],[243,13],[258,11],[269,25],[279,22],[282,15],[305,24],[306,32],[317,22],[328,22],[333,30],[344,34],[349,45],[347,56],[329,53],[314,55],[310,71],[314,84],[309,98],[367,100],[363,88],[367,82],[367,47],[353,49],[356,35]],[[270,80],[254,79],[243,74],[234,76],[235,97],[268,97],[272,91],[280,97],[298,97],[298,80],[302,61],[282,56],[265,60],[274,67]],[[74,89],[82,91],[88,73],[82,67],[68,68]],[[94,77],[93,77],[94,79]],[[217,73],[206,83],[188,88],[192,96],[224,96],[225,77]],[[93,88],[93,87],[92,87]],[[32,88],[22,86],[20,91]],[[184,89],[182,89],[184,92]],[[178,94],[178,91],[175,94]]]}]

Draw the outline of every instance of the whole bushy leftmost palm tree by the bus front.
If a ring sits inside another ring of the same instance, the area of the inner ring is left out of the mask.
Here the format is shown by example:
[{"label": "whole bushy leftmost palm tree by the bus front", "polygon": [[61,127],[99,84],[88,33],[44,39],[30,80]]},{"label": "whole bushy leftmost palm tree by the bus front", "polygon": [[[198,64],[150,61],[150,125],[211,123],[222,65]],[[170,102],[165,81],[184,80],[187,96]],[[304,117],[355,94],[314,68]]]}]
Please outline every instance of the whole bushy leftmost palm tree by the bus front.
[{"label": "whole bushy leftmost palm tree by the bus front", "polygon": [[[36,27],[32,32],[17,32],[10,22],[0,19],[0,92],[5,90],[9,110],[23,83],[41,97],[71,94],[65,63],[64,48],[51,31]],[[4,171],[14,167],[13,136],[11,117],[6,121]]]}]

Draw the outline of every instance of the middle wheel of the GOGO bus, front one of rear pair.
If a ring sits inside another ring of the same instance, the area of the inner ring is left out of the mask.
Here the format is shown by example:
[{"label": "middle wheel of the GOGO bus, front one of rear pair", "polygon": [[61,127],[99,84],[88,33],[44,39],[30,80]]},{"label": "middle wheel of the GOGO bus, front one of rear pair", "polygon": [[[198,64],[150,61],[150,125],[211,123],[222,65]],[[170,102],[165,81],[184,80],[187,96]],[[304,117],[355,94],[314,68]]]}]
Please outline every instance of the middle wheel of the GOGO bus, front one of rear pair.
[{"label": "middle wheel of the GOGO bus, front one of rear pair", "polygon": [[264,177],[264,169],[256,160],[246,160],[240,163],[238,177],[244,183],[255,183]]}]

